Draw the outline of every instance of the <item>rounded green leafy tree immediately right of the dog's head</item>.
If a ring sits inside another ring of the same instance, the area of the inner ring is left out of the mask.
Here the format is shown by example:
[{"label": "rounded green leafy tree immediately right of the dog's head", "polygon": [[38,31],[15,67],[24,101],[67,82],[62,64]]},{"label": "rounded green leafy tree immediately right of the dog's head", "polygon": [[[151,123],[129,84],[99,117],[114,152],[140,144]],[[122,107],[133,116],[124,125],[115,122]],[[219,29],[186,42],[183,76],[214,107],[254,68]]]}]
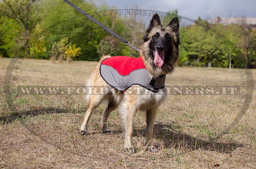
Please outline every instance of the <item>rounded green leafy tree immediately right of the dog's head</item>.
[{"label": "rounded green leafy tree immediately right of the dog's head", "polygon": [[[199,17],[196,23],[207,25]],[[213,29],[223,30],[223,25],[214,25]],[[206,66],[209,62],[214,67],[227,67],[227,52],[221,45],[221,39],[215,39],[206,28],[199,24],[180,28],[180,64]]]}]

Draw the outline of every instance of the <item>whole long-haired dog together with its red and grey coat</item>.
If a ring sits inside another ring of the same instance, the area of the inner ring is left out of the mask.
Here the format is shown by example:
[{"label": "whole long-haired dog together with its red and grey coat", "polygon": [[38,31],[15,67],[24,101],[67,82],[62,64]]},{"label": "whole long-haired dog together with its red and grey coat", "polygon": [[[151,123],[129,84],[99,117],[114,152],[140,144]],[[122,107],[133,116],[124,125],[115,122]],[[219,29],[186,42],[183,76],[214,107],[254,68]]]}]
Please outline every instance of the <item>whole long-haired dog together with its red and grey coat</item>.
[{"label": "whole long-haired dog together with its red and grey coat", "polygon": [[[174,17],[166,28],[163,28],[160,17],[154,14],[140,45],[139,58],[103,56],[99,65],[94,68],[87,86],[101,86],[109,90],[104,94],[87,95],[88,108],[80,128],[81,135],[86,133],[93,110],[103,100],[107,100],[107,108],[102,113],[103,132],[111,132],[108,130],[108,116],[119,107],[125,129],[124,148],[134,153],[134,147],[131,144],[134,115],[138,110],[145,111],[147,124],[145,145],[149,151],[157,152],[157,148],[152,144],[154,121],[158,107],[166,99],[165,75],[172,73],[175,68],[179,57],[179,45],[178,18]],[[108,69],[110,73],[106,73]],[[129,78],[131,75],[132,77]],[[141,76],[137,77],[137,75]],[[127,82],[130,80],[132,82]],[[146,94],[138,94],[138,91],[146,91]]]}]

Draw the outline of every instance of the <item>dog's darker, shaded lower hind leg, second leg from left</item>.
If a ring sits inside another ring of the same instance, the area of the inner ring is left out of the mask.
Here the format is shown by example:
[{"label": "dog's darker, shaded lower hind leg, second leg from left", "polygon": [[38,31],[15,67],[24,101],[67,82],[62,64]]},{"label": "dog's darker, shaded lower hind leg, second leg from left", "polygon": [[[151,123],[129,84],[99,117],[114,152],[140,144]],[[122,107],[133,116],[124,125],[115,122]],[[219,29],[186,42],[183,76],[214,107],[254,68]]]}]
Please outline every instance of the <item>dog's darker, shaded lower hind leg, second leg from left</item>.
[{"label": "dog's darker, shaded lower hind leg, second leg from left", "polygon": [[113,99],[109,99],[108,107],[102,113],[102,130],[104,133],[111,133],[111,130],[108,130],[108,116],[109,114],[118,107],[118,104]]}]

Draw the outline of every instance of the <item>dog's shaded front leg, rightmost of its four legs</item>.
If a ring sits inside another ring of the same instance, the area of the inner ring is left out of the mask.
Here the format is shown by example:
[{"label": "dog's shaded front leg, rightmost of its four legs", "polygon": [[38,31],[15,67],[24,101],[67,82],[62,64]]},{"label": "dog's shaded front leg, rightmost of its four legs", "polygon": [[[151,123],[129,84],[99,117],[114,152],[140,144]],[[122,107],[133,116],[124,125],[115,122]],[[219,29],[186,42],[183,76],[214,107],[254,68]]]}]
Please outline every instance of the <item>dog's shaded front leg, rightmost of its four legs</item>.
[{"label": "dog's shaded front leg, rightmost of its four legs", "polygon": [[153,146],[153,130],[154,130],[154,121],[157,115],[157,108],[148,109],[146,111],[146,121],[147,121],[147,134],[146,134],[146,146],[151,152],[157,152],[157,149]]}]

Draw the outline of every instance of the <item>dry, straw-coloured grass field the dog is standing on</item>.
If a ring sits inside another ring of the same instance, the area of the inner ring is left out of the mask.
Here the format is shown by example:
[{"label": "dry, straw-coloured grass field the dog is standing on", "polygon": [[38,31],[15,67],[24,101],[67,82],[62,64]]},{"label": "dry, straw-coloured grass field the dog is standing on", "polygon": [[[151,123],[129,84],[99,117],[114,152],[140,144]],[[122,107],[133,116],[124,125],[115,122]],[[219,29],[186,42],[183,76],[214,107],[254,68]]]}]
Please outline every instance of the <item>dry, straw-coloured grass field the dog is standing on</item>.
[{"label": "dry, straw-coloured grass field the dog is standing on", "polygon": [[[154,127],[157,153],[145,149],[145,114],[134,123],[135,154],[123,150],[122,120],[110,115],[112,134],[101,130],[101,113],[93,113],[87,135],[79,135],[87,104],[83,95],[22,95],[17,86],[84,85],[96,62],[52,63],[25,59],[12,76],[12,93],[4,93],[11,59],[0,59],[0,168],[256,168],[256,98],[236,126],[216,138],[238,115],[240,96],[169,95]],[[256,79],[256,70],[253,70]],[[256,81],[254,80],[254,83]],[[178,67],[166,85],[241,85],[239,69]],[[256,90],[254,89],[254,93]],[[6,96],[12,99],[9,109]]]}]

